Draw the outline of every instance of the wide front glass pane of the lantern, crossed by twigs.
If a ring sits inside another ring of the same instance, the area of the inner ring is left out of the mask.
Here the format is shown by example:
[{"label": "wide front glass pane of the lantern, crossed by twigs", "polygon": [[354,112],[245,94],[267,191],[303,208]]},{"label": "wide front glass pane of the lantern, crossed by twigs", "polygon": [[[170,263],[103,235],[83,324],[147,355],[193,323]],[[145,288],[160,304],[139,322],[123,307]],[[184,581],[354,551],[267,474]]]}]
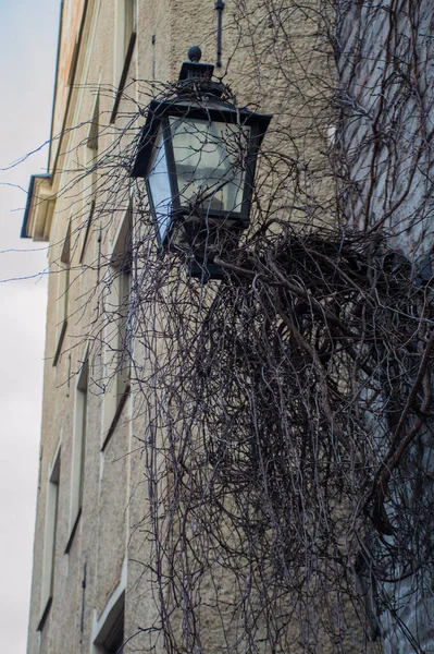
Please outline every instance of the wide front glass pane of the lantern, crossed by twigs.
[{"label": "wide front glass pane of the lantern, crossed by twigs", "polygon": [[241,213],[249,126],[171,118],[183,208]]}]

